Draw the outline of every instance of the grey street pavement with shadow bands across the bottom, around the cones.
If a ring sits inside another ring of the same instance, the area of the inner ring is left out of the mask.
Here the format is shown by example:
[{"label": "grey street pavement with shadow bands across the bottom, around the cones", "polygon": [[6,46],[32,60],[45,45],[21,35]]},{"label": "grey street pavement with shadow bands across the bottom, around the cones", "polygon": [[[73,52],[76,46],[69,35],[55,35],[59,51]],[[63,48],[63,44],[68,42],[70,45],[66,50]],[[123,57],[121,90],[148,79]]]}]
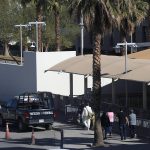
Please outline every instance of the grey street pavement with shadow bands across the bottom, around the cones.
[{"label": "grey street pavement with shadow bands across the bottom, around the cones", "polygon": [[148,150],[150,141],[145,139],[131,139],[121,141],[118,134],[113,133],[104,141],[105,147],[91,147],[94,132],[84,130],[78,125],[65,122],[55,122],[54,127],[64,131],[63,148],[60,147],[61,134],[59,131],[36,130],[35,145],[32,145],[31,132],[18,133],[10,128],[10,139],[5,139],[5,129],[0,130],[0,150],[54,150],[54,149],[100,149],[100,150]]}]

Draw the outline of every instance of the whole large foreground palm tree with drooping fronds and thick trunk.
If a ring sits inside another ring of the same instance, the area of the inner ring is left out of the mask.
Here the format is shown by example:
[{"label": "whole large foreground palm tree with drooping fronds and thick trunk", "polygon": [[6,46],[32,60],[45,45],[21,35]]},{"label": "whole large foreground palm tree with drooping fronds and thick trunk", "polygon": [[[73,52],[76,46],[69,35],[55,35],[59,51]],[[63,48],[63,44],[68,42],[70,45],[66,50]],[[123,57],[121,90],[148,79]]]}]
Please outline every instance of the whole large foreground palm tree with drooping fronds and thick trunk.
[{"label": "whole large foreground palm tree with drooping fronds and thick trunk", "polygon": [[93,110],[95,112],[94,145],[103,146],[100,120],[101,106],[101,39],[113,24],[115,9],[113,0],[74,0],[70,11],[78,17],[83,12],[85,26],[93,34]]}]

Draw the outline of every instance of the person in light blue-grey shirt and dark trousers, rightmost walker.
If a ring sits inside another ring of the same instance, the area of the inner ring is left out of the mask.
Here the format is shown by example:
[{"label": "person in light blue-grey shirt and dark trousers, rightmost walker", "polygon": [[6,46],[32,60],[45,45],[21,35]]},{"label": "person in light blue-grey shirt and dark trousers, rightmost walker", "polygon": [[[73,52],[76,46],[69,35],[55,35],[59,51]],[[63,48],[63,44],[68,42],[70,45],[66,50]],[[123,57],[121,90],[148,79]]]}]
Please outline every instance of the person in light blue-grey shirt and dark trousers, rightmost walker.
[{"label": "person in light blue-grey shirt and dark trousers, rightmost walker", "polygon": [[129,128],[130,128],[130,137],[134,138],[136,137],[136,114],[134,113],[134,110],[130,110],[129,114]]}]

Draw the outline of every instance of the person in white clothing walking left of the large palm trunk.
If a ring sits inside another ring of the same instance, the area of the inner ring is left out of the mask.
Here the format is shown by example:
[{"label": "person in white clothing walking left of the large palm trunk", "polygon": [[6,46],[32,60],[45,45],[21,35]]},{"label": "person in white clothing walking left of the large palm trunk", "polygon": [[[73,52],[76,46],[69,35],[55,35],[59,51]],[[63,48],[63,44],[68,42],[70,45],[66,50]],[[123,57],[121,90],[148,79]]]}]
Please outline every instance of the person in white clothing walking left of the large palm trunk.
[{"label": "person in white clothing walking left of the large palm trunk", "polygon": [[87,103],[87,105],[84,106],[82,112],[82,121],[87,130],[90,129],[92,116],[93,116],[92,108],[89,106],[89,103]]}]

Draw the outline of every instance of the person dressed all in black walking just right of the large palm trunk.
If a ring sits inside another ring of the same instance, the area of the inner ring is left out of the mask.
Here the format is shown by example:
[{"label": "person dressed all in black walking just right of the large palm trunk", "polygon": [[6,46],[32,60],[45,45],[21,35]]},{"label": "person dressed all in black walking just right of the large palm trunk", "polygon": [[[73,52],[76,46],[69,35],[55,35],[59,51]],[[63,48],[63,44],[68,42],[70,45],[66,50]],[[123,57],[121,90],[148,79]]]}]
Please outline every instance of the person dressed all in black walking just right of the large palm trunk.
[{"label": "person dressed all in black walking just right of the large palm trunk", "polygon": [[109,126],[110,126],[110,120],[106,112],[103,112],[101,116],[101,125],[102,125],[102,130],[103,130],[103,137],[104,139],[107,139],[107,134],[109,132]]}]

